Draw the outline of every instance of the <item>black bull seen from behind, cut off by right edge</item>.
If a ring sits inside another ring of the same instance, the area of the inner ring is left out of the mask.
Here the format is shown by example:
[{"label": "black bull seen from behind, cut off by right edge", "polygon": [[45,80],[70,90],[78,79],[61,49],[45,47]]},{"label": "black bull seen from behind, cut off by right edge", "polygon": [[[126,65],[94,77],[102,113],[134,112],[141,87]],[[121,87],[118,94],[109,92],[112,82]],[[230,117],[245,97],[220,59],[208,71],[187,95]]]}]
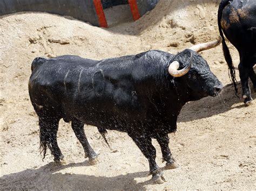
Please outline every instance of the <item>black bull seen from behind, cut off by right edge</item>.
[{"label": "black bull seen from behind, cut off by right edge", "polygon": [[230,52],[225,43],[223,32],[227,39],[237,48],[240,56],[238,66],[242,85],[242,97],[246,105],[252,102],[249,77],[256,90],[256,75],[253,66],[256,63],[256,1],[255,0],[224,0],[218,11],[219,32],[223,38],[225,60],[230,69],[230,76],[237,93],[235,69]]}]

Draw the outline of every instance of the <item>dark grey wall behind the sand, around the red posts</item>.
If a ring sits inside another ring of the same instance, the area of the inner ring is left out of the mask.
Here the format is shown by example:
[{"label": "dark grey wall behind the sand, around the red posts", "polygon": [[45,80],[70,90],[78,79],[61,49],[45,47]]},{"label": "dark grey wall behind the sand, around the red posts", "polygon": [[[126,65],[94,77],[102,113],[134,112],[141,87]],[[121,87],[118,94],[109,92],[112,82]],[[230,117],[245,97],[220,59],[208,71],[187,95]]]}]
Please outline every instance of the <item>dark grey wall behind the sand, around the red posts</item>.
[{"label": "dark grey wall behind the sand, around the red posts", "polygon": [[[156,6],[159,0],[137,0],[139,15],[143,16]],[[103,9],[120,4],[128,4],[128,0],[101,0]],[[93,0],[0,0],[0,16],[23,11],[49,12],[89,22],[99,26]],[[103,14],[104,15],[104,14]]]}]

